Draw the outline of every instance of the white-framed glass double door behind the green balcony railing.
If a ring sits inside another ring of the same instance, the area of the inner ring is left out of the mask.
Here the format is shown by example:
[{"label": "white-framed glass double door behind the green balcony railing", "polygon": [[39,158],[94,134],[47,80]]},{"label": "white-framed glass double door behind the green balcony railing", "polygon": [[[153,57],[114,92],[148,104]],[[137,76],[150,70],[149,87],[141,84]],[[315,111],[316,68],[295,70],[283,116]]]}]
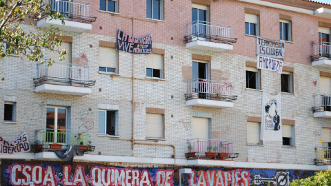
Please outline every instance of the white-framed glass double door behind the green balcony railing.
[{"label": "white-framed glass double door behind the green balcony railing", "polygon": [[46,135],[47,143],[66,143],[67,108],[47,107]]}]

